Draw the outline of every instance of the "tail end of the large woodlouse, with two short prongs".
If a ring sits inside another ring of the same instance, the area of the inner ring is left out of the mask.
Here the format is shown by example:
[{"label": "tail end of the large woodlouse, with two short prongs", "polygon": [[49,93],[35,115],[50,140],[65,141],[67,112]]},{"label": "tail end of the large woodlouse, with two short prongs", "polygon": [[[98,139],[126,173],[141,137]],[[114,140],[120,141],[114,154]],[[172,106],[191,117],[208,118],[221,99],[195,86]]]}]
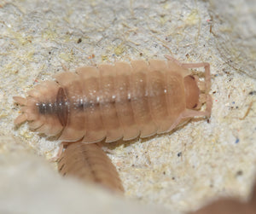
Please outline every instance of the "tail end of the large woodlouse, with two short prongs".
[{"label": "tail end of the large woodlouse, with two short prongs", "polygon": [[45,81],[28,91],[26,98],[15,96],[14,100],[21,106],[21,114],[15,119],[15,124],[26,120],[29,127],[47,136],[55,136],[63,129],[63,124],[56,113],[56,98],[60,86],[54,81]]}]

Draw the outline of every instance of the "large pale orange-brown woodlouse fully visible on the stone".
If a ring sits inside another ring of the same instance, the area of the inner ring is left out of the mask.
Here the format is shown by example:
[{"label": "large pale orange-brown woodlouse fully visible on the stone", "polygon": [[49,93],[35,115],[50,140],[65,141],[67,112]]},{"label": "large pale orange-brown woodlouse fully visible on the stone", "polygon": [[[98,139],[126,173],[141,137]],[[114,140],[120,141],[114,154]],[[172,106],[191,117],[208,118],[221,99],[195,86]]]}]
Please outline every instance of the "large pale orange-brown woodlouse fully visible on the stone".
[{"label": "large pale orange-brown woodlouse fully visible on the stone", "polygon": [[[29,126],[47,136],[60,134],[66,142],[114,142],[173,130],[190,118],[210,117],[210,66],[150,60],[80,67],[61,72],[14,99],[22,114],[15,124]],[[188,68],[204,67],[205,81]],[[205,111],[199,111],[207,102]]]}]

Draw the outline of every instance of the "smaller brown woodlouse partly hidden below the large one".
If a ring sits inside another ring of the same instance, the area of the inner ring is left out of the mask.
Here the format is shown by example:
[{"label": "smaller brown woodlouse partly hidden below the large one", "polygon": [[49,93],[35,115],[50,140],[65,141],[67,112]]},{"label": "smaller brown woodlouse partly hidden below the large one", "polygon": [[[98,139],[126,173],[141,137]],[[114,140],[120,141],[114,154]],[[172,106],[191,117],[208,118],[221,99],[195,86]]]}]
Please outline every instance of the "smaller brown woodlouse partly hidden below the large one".
[{"label": "smaller brown woodlouse partly hidden below the large one", "polygon": [[118,172],[97,144],[70,143],[61,154],[58,169],[63,176],[79,177],[81,180],[96,182],[112,190],[124,192]]}]

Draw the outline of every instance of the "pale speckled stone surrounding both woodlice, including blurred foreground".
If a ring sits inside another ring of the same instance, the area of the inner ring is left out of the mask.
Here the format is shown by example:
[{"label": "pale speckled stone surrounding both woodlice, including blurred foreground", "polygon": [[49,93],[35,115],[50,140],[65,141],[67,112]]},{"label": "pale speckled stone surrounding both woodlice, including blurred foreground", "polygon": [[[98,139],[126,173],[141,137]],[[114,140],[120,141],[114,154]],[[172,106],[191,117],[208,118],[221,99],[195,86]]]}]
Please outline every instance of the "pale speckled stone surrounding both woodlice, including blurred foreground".
[{"label": "pale speckled stone surrounding both woodlice, including blurred foreground", "polygon": [[[90,213],[100,207],[119,213],[120,206],[133,213],[183,213],[219,196],[246,200],[256,164],[255,4],[0,1],[0,212],[70,213],[68,195],[78,213],[86,207]],[[104,144],[112,150],[108,155],[123,181],[125,198],[133,202],[63,180],[45,160],[55,156],[60,142],[27,124],[13,124],[19,107],[12,97],[25,96],[62,72],[62,66],[74,72],[84,65],[164,55],[211,64],[212,118],[209,123],[192,119],[164,135]]]}]

